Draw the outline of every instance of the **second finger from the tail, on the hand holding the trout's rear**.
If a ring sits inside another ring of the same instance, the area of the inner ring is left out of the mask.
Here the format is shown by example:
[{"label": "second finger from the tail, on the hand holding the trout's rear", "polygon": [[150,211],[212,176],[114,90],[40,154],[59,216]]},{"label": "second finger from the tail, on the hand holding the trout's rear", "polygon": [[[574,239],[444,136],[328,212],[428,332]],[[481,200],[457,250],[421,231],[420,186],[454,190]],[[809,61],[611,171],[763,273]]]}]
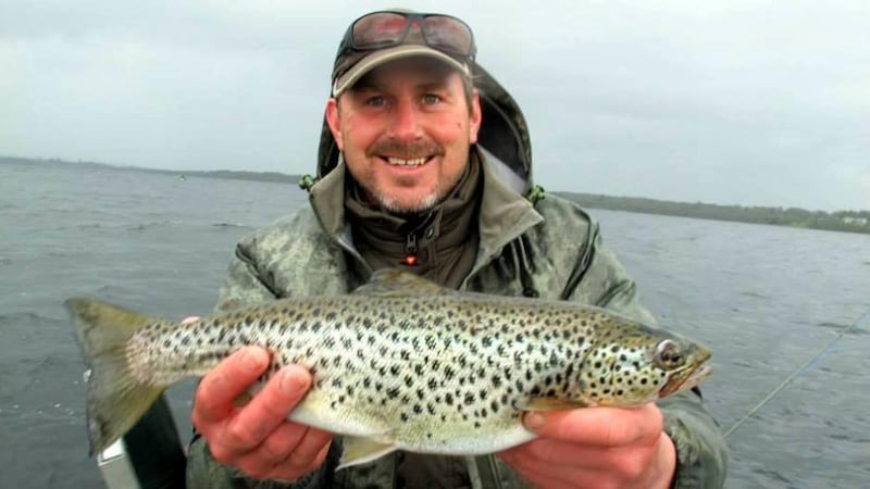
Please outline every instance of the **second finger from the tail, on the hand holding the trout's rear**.
[{"label": "second finger from the tail, on the hand holding the trout's rear", "polygon": [[248,405],[238,411],[227,427],[227,444],[252,449],[269,436],[296,408],[311,386],[311,374],[290,365],[272,377]]}]

